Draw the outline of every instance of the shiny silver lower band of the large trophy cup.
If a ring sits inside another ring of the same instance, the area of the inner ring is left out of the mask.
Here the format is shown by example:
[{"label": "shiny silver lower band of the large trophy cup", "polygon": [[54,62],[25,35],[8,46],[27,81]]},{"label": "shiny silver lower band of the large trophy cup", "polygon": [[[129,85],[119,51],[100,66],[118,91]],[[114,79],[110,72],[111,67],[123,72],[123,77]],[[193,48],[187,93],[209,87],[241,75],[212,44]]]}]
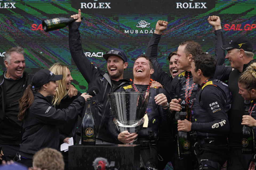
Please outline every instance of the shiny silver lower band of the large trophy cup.
[{"label": "shiny silver lower band of the large trophy cup", "polygon": [[143,128],[144,121],[145,119],[141,118],[137,122],[127,123],[127,122],[119,122],[117,119],[114,118],[114,124],[116,125],[115,128],[119,132],[127,130],[129,133],[137,133],[139,130]]}]

